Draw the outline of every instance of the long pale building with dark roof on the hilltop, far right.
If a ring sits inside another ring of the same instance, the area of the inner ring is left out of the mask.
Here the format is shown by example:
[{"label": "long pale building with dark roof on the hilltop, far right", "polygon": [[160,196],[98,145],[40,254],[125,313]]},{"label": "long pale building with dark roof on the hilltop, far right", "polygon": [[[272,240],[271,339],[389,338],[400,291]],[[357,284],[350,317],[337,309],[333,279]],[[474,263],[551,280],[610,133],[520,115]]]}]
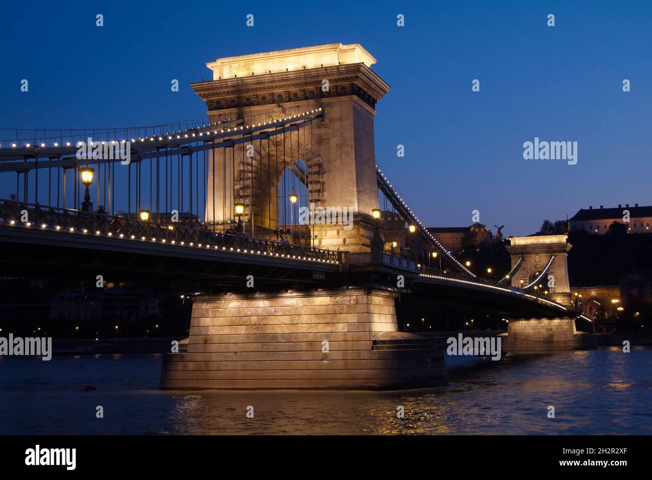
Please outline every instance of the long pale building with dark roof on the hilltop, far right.
[{"label": "long pale building with dark roof on the hilltop, far right", "polygon": [[[629,211],[629,222],[623,222],[623,217]],[[630,233],[646,233],[650,232],[650,223],[652,223],[652,206],[634,206],[630,207],[629,203],[623,207],[619,205],[617,208],[580,208],[569,220],[572,231],[586,231],[592,234],[604,235],[609,231],[609,225],[617,221],[625,223]]]}]

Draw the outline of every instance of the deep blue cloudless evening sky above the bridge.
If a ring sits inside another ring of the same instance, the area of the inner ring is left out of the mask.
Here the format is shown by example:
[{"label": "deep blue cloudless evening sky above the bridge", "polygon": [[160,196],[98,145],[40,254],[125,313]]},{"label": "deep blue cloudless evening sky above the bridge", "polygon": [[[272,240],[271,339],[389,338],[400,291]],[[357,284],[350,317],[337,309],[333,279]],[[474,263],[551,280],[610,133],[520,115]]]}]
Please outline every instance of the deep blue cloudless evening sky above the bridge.
[{"label": "deep blue cloudless evening sky above the bridge", "polygon": [[[207,61],[360,43],[392,87],[377,105],[376,158],[426,223],[469,225],[477,209],[481,223],[529,234],[589,205],[652,203],[651,24],[652,3],[627,1],[12,1],[0,128],[198,118],[205,104],[188,84],[211,78]],[[535,136],[578,142],[577,165],[524,160]]]}]

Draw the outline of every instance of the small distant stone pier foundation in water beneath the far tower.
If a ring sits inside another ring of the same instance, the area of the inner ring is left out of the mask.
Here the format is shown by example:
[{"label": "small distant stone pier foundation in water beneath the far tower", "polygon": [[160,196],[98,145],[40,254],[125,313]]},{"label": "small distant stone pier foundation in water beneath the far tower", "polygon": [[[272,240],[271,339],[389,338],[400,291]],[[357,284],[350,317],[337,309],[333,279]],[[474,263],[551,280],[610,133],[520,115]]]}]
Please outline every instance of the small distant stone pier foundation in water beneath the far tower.
[{"label": "small distant stone pier foundation in water beneath the far tower", "polygon": [[[506,341],[505,341],[506,340]],[[502,349],[509,353],[595,348],[591,334],[578,332],[575,319],[516,319],[509,321]]]}]

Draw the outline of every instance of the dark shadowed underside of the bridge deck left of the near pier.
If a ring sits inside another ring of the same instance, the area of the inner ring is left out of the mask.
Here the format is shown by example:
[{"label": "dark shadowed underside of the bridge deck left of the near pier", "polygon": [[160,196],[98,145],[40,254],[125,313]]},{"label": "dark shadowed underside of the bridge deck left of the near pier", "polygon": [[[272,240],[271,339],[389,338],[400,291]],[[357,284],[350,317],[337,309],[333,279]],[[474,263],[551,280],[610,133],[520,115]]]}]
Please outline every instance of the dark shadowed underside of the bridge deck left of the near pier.
[{"label": "dark shadowed underside of the bridge deck left of the near pier", "polygon": [[126,248],[117,240],[93,239],[95,242],[87,243],[49,240],[50,243],[48,239],[3,238],[0,275],[87,281],[96,281],[96,276],[101,275],[104,281],[164,281],[213,291],[227,286],[246,288],[249,275],[254,276],[257,289],[267,289],[323,283],[332,274],[319,270],[323,278],[314,279],[312,268],[297,266],[292,261],[270,258],[261,261],[256,255],[233,252],[184,251],[183,248],[170,252],[154,246],[148,249],[147,242],[140,240],[133,240],[134,245]]}]

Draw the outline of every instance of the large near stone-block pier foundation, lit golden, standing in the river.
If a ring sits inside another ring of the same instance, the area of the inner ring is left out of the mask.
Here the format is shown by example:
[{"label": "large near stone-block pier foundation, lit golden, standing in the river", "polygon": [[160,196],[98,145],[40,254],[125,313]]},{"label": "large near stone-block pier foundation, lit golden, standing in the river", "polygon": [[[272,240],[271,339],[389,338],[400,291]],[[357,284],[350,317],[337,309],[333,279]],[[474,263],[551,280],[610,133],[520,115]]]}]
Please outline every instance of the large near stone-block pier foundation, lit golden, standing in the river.
[{"label": "large near stone-block pier foundation, lit golden, standing in the river", "polygon": [[198,296],[166,389],[402,389],[445,385],[443,349],[397,332],[372,289]]}]

